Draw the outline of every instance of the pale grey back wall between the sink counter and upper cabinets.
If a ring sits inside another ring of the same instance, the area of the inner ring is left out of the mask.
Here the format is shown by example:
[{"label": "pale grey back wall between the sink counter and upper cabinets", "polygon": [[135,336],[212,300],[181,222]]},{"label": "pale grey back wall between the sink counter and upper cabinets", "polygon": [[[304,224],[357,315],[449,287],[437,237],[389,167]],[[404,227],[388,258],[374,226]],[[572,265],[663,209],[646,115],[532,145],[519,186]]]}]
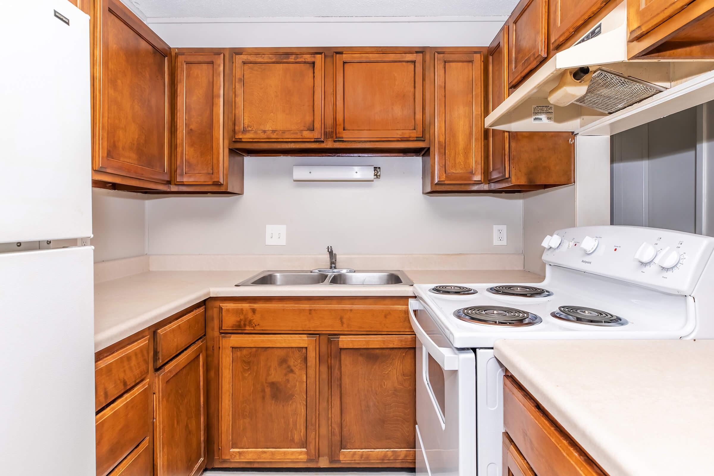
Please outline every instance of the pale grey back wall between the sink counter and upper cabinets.
[{"label": "pale grey back wall between the sink counter and upper cabinets", "polygon": [[[374,182],[293,182],[293,164],[380,166]],[[246,158],[245,195],[149,198],[149,254],[521,253],[520,195],[424,196],[421,158]],[[493,246],[493,225],[508,245]],[[287,245],[266,246],[265,226]]]}]

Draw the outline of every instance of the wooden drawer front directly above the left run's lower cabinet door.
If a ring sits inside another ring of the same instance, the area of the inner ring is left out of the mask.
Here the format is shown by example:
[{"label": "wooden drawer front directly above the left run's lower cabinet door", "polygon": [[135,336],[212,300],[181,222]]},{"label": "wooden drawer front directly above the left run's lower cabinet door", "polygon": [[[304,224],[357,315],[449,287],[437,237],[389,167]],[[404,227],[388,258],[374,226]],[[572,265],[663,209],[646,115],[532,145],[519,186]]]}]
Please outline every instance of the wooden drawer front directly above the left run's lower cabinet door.
[{"label": "wooden drawer front directly above the left run's lower cabinet door", "polygon": [[201,307],[154,331],[154,367],[159,368],[174,355],[206,333],[206,308]]}]

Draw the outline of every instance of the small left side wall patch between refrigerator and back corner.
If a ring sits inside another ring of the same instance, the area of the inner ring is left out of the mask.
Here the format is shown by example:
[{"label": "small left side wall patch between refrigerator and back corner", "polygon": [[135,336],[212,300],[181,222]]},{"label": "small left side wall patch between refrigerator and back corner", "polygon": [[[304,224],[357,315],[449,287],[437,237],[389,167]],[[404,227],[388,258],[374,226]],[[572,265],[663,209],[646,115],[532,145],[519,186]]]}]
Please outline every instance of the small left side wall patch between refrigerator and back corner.
[{"label": "small left side wall patch between refrigerator and back corner", "polygon": [[94,261],[146,254],[146,196],[92,189]]}]

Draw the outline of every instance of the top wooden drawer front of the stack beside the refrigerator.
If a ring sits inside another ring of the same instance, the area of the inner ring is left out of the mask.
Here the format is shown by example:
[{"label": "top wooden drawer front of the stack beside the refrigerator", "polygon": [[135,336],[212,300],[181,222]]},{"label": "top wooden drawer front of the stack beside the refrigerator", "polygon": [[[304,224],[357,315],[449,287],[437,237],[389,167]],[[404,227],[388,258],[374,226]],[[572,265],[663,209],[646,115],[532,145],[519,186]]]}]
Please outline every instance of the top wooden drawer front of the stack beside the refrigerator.
[{"label": "top wooden drawer front of the stack beside the refrigerator", "polygon": [[148,337],[97,361],[94,365],[94,410],[119,397],[148,373]]}]

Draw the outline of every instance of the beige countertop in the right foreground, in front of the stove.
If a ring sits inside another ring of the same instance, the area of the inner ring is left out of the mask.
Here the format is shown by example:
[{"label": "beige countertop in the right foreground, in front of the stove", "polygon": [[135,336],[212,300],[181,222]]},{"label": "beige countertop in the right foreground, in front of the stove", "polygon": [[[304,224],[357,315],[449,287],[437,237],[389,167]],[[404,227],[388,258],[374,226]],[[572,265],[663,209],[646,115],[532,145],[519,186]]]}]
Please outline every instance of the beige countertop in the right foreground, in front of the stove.
[{"label": "beige countertop in the right foreground, in front of the stove", "polygon": [[495,349],[608,475],[712,474],[714,340],[498,340]]}]

